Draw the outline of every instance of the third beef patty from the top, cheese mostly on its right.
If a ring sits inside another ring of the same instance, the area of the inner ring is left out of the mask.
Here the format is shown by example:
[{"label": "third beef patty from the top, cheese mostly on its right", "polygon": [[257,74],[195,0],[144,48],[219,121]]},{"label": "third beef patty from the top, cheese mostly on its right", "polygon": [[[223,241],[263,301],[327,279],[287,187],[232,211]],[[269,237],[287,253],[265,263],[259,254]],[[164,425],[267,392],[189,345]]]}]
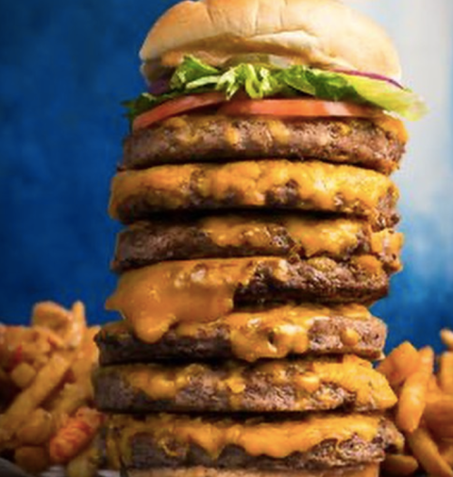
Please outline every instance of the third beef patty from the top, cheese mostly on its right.
[{"label": "third beef patty from the top, cheese mostly on its right", "polygon": [[348,259],[371,253],[389,272],[399,271],[403,234],[373,232],[364,220],[297,214],[242,214],[154,220],[118,234],[113,270],[123,272],[164,260],[230,258],[253,255],[301,258],[326,255]]}]

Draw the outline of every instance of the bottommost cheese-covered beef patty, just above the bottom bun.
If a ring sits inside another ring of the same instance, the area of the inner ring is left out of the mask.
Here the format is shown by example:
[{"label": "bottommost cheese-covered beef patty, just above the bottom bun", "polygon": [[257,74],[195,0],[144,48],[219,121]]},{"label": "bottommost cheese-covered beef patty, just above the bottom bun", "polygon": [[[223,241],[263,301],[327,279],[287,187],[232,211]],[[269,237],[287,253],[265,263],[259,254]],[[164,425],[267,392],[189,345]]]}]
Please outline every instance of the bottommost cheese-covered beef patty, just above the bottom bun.
[{"label": "bottommost cheese-covered beef patty, just above the bottom bun", "polygon": [[125,469],[327,470],[380,462],[386,450],[403,446],[392,422],[365,414],[310,413],[285,421],[113,415],[106,434],[110,467]]}]

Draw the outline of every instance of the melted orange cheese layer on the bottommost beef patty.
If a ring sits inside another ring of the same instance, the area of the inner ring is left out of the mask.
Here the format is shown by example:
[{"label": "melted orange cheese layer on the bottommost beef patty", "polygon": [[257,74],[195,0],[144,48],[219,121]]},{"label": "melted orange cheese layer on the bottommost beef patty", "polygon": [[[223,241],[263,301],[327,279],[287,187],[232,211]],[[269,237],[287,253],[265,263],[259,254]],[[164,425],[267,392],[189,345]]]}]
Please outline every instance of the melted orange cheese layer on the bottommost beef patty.
[{"label": "melted orange cheese layer on the bottommost beef patty", "polygon": [[[166,442],[176,439],[180,444],[198,445],[213,459],[229,445],[241,447],[252,456],[264,454],[283,459],[293,452],[310,451],[326,440],[345,442],[359,436],[371,442],[379,433],[380,422],[380,417],[361,414],[310,415],[304,421],[272,423],[256,420],[244,423],[231,420],[209,422],[201,418],[161,414],[148,416],[143,422],[114,416],[111,429],[120,431],[120,449],[127,464],[131,458],[130,442],[134,435],[142,432],[152,433],[164,451],[167,449]],[[396,429],[395,442],[397,446],[402,446],[402,437]]]}]

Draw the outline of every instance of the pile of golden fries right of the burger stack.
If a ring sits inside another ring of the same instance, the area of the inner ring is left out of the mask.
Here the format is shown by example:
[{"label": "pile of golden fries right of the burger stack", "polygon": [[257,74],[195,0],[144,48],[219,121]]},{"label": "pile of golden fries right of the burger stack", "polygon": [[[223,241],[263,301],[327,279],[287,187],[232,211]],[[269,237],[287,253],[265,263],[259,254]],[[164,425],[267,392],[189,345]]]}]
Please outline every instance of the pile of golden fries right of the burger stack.
[{"label": "pile of golden fries right of the burger stack", "polygon": [[[390,454],[383,469],[405,476],[419,469],[431,477],[453,477],[453,332],[441,332],[448,351],[436,363],[429,347],[406,342],[379,364],[399,396],[395,422],[406,436],[406,454]],[[437,373],[435,370],[437,368]]]}]

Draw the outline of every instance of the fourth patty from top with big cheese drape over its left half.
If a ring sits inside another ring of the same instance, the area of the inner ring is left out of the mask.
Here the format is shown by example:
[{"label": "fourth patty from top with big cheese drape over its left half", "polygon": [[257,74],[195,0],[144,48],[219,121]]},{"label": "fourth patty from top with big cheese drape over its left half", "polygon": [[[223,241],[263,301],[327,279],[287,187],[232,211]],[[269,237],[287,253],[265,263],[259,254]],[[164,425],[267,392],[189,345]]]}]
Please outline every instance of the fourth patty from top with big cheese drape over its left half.
[{"label": "fourth patty from top with big cheese drape over its left half", "polygon": [[213,322],[261,303],[369,303],[386,295],[389,275],[372,255],[348,262],[277,257],[161,262],[120,277],[107,309],[122,313],[143,341],[180,322]]}]

